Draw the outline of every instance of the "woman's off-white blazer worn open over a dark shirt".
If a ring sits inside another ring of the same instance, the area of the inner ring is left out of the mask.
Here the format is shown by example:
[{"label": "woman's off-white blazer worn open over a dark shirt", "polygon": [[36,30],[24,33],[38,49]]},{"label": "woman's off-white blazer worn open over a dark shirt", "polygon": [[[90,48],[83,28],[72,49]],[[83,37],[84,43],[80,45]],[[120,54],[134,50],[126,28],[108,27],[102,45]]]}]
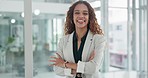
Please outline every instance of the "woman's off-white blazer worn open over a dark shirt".
[{"label": "woman's off-white blazer worn open over a dark shirt", "polygon": [[[86,41],[82,52],[82,61],[77,63],[77,72],[83,74],[83,78],[99,78],[99,69],[103,61],[106,39],[104,36],[93,35],[90,30],[87,34]],[[89,61],[91,52],[95,51],[95,57]],[[66,61],[75,63],[73,56],[73,33],[60,39],[58,54]],[[54,66],[57,75],[66,76],[66,78],[75,78],[71,74],[71,69]]]}]

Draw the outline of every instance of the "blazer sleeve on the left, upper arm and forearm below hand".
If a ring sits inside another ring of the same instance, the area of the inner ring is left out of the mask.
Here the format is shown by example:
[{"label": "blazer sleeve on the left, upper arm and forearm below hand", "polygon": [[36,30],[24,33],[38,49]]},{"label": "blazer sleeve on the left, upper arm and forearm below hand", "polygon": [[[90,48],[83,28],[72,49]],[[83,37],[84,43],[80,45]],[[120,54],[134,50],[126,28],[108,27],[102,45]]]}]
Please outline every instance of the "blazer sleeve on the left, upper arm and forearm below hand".
[{"label": "blazer sleeve on the left, upper arm and forearm below hand", "polygon": [[[62,57],[63,60],[64,60],[63,48],[64,48],[65,43],[66,43],[66,40],[63,37],[60,39],[58,47],[57,47],[57,53]],[[69,69],[69,68],[54,66],[53,70],[59,76],[73,76],[71,74],[71,69]]]}]

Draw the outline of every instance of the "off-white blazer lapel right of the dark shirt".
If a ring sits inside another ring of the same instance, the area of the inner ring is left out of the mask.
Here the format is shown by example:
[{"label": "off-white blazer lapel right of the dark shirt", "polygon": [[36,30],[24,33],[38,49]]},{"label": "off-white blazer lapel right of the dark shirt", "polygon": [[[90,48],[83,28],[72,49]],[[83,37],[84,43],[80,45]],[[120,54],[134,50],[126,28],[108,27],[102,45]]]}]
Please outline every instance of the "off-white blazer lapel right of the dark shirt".
[{"label": "off-white blazer lapel right of the dark shirt", "polygon": [[93,39],[93,34],[89,30],[82,52],[82,61],[87,61],[88,54],[90,54],[89,49],[92,44],[92,39]]}]

